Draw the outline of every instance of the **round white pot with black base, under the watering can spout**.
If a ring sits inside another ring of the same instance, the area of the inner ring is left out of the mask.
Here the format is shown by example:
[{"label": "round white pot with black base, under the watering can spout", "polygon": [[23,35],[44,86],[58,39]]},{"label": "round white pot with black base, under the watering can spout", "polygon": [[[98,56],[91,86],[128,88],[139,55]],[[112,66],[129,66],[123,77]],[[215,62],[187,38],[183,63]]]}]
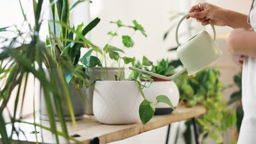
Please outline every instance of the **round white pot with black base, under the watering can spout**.
[{"label": "round white pot with black base, under the watering can spout", "polygon": [[[142,84],[145,85],[145,81],[143,81]],[[149,85],[149,82],[146,83],[146,86],[147,85]],[[179,103],[179,89],[172,80],[155,78],[149,88],[143,88],[143,93],[149,101],[153,101],[154,103],[156,103],[155,98],[158,95],[166,95],[171,100],[174,107],[178,106]],[[164,115],[172,111],[173,109],[165,103],[158,103],[155,107],[155,115]]]}]

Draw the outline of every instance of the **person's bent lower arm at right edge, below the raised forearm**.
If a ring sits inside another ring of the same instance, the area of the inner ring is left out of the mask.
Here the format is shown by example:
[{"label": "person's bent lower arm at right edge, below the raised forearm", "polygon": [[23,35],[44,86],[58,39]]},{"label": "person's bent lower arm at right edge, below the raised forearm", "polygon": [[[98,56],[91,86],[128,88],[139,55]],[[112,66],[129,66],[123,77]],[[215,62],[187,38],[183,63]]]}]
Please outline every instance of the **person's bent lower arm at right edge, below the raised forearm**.
[{"label": "person's bent lower arm at right edge, below the raised forearm", "polygon": [[228,37],[228,49],[237,55],[256,57],[256,32],[232,31]]}]

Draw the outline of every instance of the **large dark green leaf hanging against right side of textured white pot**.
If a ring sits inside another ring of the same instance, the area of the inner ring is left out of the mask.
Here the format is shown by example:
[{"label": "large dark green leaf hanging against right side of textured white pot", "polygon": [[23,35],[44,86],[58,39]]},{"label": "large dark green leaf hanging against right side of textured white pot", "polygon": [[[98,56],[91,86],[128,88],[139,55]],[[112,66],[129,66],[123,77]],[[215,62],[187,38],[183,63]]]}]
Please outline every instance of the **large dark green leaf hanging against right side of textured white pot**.
[{"label": "large dark green leaf hanging against right side of textured white pot", "polygon": [[154,116],[155,105],[154,103],[143,100],[141,105],[139,105],[139,117],[141,118],[142,124],[146,124]]}]

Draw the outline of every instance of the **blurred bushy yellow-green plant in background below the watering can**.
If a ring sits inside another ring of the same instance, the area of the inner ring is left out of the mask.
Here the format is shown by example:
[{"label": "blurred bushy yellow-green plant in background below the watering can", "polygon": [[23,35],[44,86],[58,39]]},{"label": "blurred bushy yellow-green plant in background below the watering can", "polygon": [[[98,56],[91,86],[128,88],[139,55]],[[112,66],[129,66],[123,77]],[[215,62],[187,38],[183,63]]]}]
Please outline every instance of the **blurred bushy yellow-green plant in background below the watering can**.
[{"label": "blurred bushy yellow-green plant in background below the watering can", "polygon": [[[236,123],[236,112],[231,112],[226,101],[223,100],[220,88],[224,85],[218,80],[219,75],[219,69],[215,67],[207,68],[191,76],[184,74],[174,80],[178,85],[181,99],[186,102],[187,106],[202,104],[207,109],[205,115],[197,118],[197,123],[201,127],[201,142],[209,136],[216,143],[222,143],[224,131],[232,128]],[[190,129],[189,122],[186,131],[188,129]],[[184,139],[189,139],[189,134],[187,136]],[[190,142],[187,141],[187,143]]]}]

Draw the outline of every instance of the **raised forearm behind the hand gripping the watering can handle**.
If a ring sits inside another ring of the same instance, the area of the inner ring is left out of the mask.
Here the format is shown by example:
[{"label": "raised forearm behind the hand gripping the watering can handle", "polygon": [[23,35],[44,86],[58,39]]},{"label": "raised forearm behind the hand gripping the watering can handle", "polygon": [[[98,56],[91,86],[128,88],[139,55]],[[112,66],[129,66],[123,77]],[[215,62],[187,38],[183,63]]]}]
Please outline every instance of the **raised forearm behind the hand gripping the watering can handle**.
[{"label": "raised forearm behind the hand gripping the watering can handle", "polygon": [[223,16],[226,21],[226,26],[232,27],[234,29],[244,28],[246,30],[251,28],[251,25],[247,23],[247,15],[232,10],[224,9],[224,11],[225,14]]}]

